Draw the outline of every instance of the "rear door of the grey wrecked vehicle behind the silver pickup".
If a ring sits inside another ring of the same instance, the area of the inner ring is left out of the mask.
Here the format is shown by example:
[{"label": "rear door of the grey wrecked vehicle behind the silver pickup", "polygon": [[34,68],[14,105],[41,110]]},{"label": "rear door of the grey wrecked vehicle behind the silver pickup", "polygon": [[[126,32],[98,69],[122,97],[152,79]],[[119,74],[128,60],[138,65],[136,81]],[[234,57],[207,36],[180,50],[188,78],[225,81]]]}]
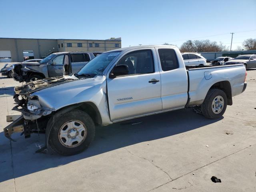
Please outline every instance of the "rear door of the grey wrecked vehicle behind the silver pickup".
[{"label": "rear door of the grey wrecked vehicle behind the silver pickup", "polygon": [[72,73],[77,73],[88,61],[90,61],[90,57],[87,53],[71,54]]}]

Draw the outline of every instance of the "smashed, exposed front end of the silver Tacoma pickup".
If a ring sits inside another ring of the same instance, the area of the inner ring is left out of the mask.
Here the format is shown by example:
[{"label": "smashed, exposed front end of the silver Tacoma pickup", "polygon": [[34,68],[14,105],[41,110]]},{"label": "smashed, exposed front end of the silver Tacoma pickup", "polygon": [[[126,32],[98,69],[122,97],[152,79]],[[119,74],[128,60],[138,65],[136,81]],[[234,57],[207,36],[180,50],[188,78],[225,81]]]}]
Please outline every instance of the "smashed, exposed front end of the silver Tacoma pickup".
[{"label": "smashed, exposed front end of the silver Tacoma pickup", "polygon": [[17,86],[14,88],[14,101],[17,104],[12,108],[21,112],[21,116],[7,116],[7,122],[12,122],[4,128],[4,135],[11,139],[11,135],[16,132],[24,133],[25,138],[30,137],[31,133],[45,133],[48,120],[51,118],[51,113],[54,109],[41,106],[38,97],[32,93],[56,86],[64,82],[68,82],[64,77],[46,78]]}]

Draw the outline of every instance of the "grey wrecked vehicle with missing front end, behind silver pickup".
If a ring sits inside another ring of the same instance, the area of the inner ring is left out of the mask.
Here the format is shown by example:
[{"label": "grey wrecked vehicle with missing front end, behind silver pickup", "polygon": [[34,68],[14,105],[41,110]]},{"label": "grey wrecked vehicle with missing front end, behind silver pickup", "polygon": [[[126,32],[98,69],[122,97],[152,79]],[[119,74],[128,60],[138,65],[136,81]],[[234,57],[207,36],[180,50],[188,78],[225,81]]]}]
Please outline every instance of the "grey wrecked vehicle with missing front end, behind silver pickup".
[{"label": "grey wrecked vehicle with missing front end, behind silver pickup", "polygon": [[12,78],[18,82],[32,82],[63,75],[63,70],[65,74],[76,73],[93,58],[93,52],[57,52],[39,63],[13,64]]}]

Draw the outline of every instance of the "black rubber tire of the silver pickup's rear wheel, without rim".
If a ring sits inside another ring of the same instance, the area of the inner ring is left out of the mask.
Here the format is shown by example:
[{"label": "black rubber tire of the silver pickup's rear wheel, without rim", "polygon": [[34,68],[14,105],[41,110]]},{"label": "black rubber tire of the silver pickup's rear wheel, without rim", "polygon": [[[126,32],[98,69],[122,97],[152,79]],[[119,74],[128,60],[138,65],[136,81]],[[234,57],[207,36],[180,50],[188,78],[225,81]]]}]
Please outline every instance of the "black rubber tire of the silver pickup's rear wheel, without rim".
[{"label": "black rubber tire of the silver pickup's rear wheel, without rim", "polygon": [[[212,109],[212,102],[214,100],[214,98],[216,98],[217,96],[221,96],[224,100],[224,103],[222,105],[221,111],[218,114],[215,114]],[[204,102],[201,105],[201,111],[202,114],[209,119],[218,119],[220,118],[224,112],[226,111],[227,108],[227,96],[226,93],[220,89],[210,89],[204,99]]]}]

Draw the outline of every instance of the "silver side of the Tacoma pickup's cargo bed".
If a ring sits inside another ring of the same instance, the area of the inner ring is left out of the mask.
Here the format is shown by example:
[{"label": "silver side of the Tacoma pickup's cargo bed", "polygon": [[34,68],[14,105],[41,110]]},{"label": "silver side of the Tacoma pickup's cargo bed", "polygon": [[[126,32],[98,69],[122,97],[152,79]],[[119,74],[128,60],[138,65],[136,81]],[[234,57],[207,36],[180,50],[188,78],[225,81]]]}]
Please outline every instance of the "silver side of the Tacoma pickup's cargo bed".
[{"label": "silver side of the Tacoma pickup's cargo bed", "polygon": [[[192,67],[192,68],[191,68]],[[214,84],[228,84],[232,97],[244,88],[246,69],[244,64],[224,66],[186,66],[188,74],[188,105],[200,105]]]}]

